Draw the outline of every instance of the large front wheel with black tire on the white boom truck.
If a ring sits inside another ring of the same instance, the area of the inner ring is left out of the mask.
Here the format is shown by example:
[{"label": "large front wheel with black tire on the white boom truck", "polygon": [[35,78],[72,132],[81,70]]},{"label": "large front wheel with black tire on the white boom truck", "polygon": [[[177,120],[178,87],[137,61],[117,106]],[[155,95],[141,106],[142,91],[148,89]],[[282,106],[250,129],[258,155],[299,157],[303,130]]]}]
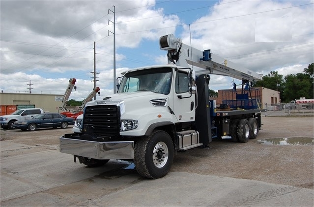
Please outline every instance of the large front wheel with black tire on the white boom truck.
[{"label": "large front wheel with black tire on the white boom truck", "polygon": [[154,130],[149,137],[139,140],[134,147],[134,164],[146,178],[164,177],[170,171],[174,156],[171,137],[162,130]]}]

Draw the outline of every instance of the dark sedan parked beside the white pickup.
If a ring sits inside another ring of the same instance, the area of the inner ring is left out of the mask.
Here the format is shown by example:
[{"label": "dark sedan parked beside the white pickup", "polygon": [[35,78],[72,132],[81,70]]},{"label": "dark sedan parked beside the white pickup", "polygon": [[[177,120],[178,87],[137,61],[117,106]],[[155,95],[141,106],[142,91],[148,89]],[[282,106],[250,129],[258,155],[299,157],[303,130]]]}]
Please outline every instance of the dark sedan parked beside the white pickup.
[{"label": "dark sedan parked beside the white pickup", "polygon": [[58,113],[45,113],[34,116],[32,119],[14,122],[15,129],[22,131],[35,131],[37,128],[57,128],[65,129],[68,125],[74,125],[75,119],[66,117]]}]

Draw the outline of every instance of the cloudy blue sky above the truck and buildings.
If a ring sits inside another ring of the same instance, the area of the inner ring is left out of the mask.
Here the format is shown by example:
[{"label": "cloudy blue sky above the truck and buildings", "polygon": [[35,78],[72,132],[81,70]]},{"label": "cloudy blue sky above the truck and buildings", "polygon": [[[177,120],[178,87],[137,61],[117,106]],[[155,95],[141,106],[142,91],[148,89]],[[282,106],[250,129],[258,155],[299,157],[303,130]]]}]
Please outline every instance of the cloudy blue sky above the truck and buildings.
[{"label": "cloudy blue sky above the truck and buildings", "polygon": [[[115,34],[115,35],[114,35]],[[159,38],[211,49],[257,73],[302,72],[314,62],[314,0],[0,0],[0,91],[106,97],[116,77],[167,64]],[[211,90],[229,89],[212,75]]]}]

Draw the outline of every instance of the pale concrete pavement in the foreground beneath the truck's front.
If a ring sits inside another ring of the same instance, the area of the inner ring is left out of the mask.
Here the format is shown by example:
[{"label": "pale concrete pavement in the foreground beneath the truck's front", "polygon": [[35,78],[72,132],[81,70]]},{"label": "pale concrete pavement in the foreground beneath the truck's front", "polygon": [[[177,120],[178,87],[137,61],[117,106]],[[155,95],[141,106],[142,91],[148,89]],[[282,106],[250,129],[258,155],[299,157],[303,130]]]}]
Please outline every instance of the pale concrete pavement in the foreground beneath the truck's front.
[{"label": "pale concrete pavement in the foreground beneath the truck's front", "polygon": [[[157,180],[129,162],[89,168],[56,146],[1,141],[1,206],[313,206],[314,191],[187,172]],[[34,150],[34,149],[37,150]]]}]

